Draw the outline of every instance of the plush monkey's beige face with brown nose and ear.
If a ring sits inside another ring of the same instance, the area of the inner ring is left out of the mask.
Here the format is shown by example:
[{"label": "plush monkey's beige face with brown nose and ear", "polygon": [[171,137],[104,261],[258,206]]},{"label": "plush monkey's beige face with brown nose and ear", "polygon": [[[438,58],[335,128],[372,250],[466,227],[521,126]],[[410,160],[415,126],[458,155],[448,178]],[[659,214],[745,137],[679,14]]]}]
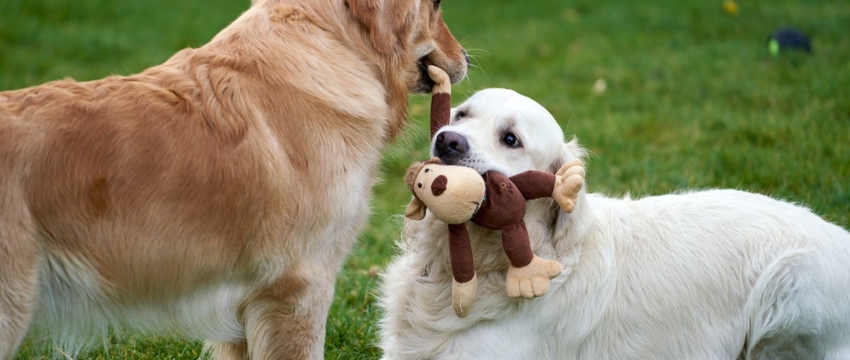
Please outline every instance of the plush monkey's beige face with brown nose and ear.
[{"label": "plush monkey's beige face with brown nose and ear", "polygon": [[484,179],[465,166],[417,163],[408,170],[406,181],[414,198],[404,215],[415,220],[425,217],[428,208],[447,224],[462,224],[484,200]]}]

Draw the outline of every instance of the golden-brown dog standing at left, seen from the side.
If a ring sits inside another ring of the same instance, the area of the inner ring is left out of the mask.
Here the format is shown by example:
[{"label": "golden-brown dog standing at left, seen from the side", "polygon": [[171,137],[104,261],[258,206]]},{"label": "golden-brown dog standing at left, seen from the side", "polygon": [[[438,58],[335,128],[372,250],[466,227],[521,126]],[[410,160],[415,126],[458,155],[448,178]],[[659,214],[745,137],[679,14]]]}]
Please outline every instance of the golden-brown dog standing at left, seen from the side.
[{"label": "golden-brown dog standing at left, seen from the side", "polygon": [[0,92],[0,359],[109,326],[322,358],[408,93],[466,75],[439,3],[254,0],[140,74]]}]

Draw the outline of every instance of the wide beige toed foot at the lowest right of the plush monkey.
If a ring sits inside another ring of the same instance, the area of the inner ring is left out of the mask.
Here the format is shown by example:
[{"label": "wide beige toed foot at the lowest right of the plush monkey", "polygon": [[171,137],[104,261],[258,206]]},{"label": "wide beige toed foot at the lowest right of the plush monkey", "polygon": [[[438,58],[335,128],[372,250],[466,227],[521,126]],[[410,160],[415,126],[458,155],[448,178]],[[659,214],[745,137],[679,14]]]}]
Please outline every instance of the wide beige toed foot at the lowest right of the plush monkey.
[{"label": "wide beige toed foot at the lowest right of the plush monkey", "polygon": [[561,273],[561,264],[537,255],[528,265],[521,268],[510,266],[505,277],[505,291],[508,297],[526,299],[543,296],[549,291],[549,279]]}]

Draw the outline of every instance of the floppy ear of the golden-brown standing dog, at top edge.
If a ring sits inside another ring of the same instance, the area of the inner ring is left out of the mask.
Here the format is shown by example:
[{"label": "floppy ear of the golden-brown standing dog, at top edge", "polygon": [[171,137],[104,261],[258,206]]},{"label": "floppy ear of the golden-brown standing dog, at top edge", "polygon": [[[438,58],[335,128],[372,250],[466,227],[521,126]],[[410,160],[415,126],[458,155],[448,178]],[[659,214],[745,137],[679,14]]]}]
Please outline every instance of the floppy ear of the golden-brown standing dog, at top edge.
[{"label": "floppy ear of the golden-brown standing dog, at top edge", "polygon": [[419,10],[419,1],[346,0],[351,14],[369,33],[372,46],[382,54],[406,50],[412,23]]}]

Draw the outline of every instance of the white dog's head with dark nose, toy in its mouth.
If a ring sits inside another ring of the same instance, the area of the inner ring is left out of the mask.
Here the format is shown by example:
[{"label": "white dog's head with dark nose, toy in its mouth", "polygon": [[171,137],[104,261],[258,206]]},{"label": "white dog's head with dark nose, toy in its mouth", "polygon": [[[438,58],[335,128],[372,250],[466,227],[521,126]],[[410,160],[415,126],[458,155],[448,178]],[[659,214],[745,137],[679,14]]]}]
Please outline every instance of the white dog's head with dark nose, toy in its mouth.
[{"label": "white dog's head with dark nose, toy in its mouth", "polygon": [[564,143],[555,118],[543,106],[507,89],[486,89],[451,111],[449,125],[431,144],[444,164],[495,170],[513,176],[527,170],[554,173],[583,150]]}]

